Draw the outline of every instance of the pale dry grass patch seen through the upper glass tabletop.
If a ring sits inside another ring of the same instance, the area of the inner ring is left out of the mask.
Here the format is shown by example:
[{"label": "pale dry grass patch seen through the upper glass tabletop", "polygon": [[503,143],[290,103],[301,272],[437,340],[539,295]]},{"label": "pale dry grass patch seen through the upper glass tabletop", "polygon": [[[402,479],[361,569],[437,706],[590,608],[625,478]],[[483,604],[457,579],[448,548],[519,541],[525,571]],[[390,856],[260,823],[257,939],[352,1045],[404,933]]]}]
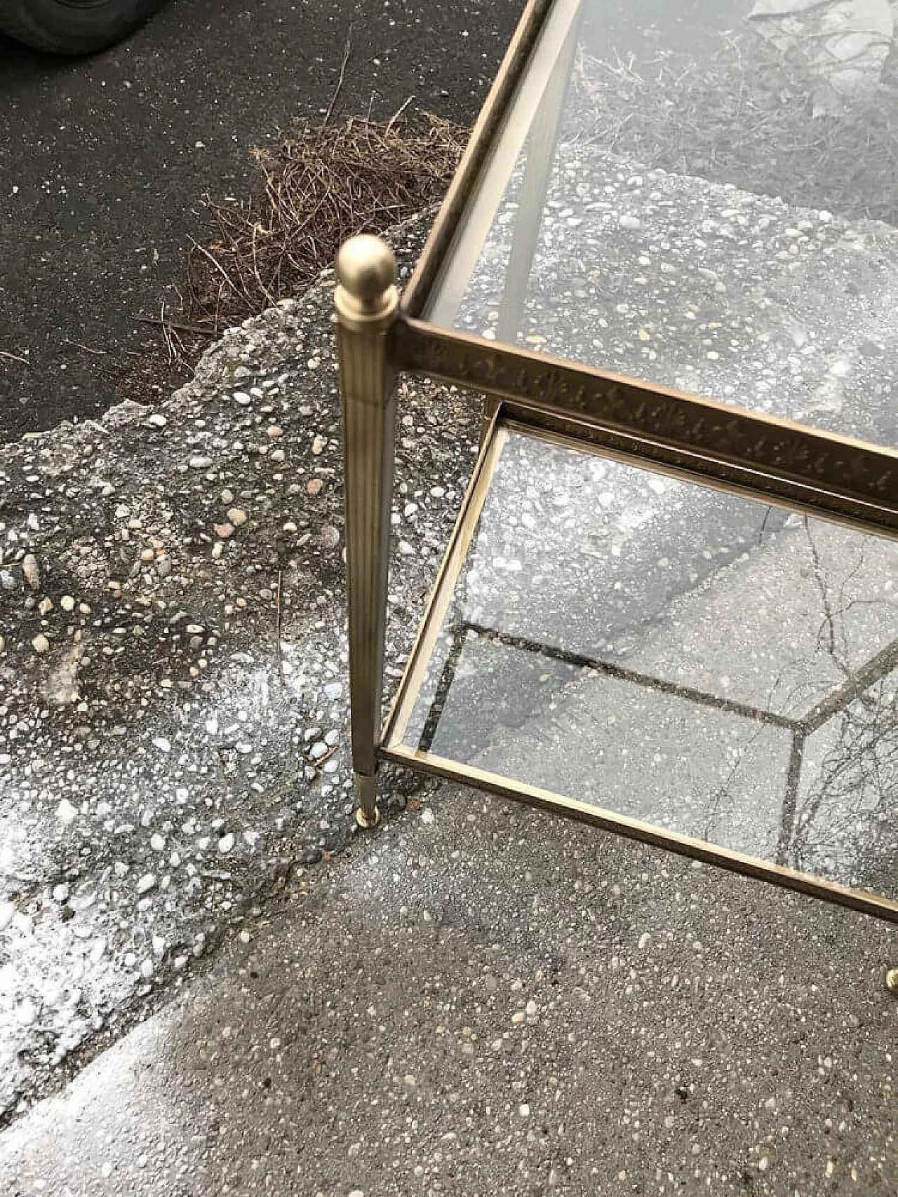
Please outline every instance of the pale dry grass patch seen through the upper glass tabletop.
[{"label": "pale dry grass patch seen through the upper glass tabletop", "polygon": [[574,105],[588,141],[647,166],[898,225],[896,74],[892,61],[873,99],[814,116],[819,80],[741,37],[638,69],[581,57]]}]

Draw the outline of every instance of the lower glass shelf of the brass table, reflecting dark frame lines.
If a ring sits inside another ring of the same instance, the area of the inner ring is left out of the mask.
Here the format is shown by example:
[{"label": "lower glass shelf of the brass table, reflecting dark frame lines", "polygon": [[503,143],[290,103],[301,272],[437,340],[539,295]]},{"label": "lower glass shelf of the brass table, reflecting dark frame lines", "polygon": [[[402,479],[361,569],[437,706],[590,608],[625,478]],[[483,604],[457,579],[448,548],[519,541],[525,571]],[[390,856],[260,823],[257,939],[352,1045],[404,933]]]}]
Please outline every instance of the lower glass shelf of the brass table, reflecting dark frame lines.
[{"label": "lower glass shelf of the brass table, reflecting dark frame lines", "polygon": [[472,504],[392,743],[898,901],[898,543],[514,425]]}]

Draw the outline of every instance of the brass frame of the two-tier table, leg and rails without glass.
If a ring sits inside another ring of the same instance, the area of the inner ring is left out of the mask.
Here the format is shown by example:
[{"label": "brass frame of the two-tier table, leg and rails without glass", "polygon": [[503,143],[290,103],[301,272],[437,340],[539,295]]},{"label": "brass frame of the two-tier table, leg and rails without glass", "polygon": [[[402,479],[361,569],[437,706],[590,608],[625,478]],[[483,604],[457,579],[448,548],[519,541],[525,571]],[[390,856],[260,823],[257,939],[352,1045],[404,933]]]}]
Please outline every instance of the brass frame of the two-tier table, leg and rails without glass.
[{"label": "brass frame of the two-tier table, leg and rails without glass", "polygon": [[[580,8],[580,0],[528,4],[401,302],[395,287],[395,261],[383,242],[357,237],[338,256],[335,303],[344,406],[357,819],[363,827],[377,822],[377,766],[381,760],[390,760],[898,922],[898,901],[667,832],[401,743],[417,680],[477,524],[496,461],[497,432],[509,421],[574,439],[605,456],[898,539],[896,450],[439,327],[441,306],[445,310],[448,304],[451,315],[451,304],[462,293],[499,202],[502,188],[491,187],[490,178],[503,178],[503,172],[506,177],[530,129],[506,297],[499,316],[499,335],[514,333],[520,315],[515,305],[529,277],[564,97],[559,78],[566,78]],[[466,237],[454,245],[462,219]],[[474,388],[490,402],[480,456],[461,515],[382,728],[395,381],[400,371]],[[885,655],[880,654],[870,668],[881,666],[880,657],[894,657],[894,643]]]}]

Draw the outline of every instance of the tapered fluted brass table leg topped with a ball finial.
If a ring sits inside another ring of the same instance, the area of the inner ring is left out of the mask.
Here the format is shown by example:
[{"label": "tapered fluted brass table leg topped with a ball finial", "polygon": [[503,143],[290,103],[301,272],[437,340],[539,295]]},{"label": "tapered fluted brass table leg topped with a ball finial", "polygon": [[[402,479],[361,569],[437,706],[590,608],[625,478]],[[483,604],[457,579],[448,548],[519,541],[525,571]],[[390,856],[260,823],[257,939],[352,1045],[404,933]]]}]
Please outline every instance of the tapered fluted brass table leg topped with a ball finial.
[{"label": "tapered fluted brass table leg topped with a ball finial", "polygon": [[360,827],[374,827],[380,819],[377,740],[396,419],[388,333],[399,304],[395,274],[393,251],[377,237],[353,237],[336,257],[352,767]]}]

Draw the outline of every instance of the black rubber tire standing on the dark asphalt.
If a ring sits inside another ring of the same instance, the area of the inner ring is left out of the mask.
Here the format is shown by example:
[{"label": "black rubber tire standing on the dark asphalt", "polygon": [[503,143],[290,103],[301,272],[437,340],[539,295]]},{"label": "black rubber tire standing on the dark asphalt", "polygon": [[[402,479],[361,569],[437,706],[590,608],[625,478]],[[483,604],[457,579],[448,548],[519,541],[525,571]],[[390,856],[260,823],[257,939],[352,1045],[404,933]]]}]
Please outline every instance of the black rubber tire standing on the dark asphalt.
[{"label": "black rubber tire standing on the dark asphalt", "polygon": [[51,54],[93,54],[142,25],[165,0],[0,0],[0,30]]}]

